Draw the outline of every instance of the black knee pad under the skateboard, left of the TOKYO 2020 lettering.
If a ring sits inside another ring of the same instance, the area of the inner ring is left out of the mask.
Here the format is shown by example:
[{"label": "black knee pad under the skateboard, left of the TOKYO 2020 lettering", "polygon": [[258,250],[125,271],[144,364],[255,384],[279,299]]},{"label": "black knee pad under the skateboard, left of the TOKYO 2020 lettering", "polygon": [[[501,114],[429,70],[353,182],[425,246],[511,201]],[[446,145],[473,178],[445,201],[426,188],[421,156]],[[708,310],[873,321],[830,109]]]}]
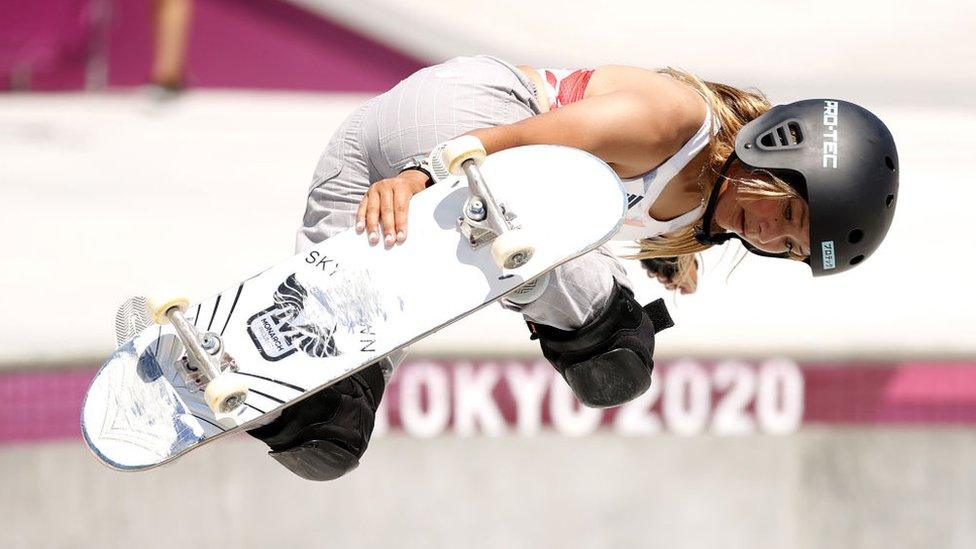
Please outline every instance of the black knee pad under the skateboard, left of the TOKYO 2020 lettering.
[{"label": "black knee pad under the skateboard, left of the TOKYO 2020 lettering", "polygon": [[285,408],[271,423],[248,431],[270,455],[308,480],[333,480],[359,466],[373,433],[385,381],[381,363]]}]

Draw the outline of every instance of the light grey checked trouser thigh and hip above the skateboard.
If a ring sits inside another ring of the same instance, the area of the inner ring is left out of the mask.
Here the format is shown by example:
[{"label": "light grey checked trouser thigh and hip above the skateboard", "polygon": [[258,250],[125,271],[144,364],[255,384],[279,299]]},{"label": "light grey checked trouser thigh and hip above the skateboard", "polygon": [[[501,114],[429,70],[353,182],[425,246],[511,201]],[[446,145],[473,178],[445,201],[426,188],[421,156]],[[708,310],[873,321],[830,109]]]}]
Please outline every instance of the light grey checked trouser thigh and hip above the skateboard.
[{"label": "light grey checked trouser thigh and hip above the skateboard", "polygon": [[459,57],[421,69],[354,112],[315,169],[296,247],[305,250],[355,224],[371,182],[411,158],[477,128],[538,114],[535,85],[493,57]]}]

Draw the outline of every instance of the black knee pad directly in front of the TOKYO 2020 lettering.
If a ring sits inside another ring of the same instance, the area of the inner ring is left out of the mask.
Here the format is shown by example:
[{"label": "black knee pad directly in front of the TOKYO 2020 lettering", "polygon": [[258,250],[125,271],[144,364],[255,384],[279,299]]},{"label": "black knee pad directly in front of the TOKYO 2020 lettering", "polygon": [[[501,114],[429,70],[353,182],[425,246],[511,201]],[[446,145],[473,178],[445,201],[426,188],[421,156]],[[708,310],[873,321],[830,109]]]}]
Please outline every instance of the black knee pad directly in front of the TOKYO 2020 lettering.
[{"label": "black knee pad directly in front of the TOKYO 2020 lettering", "polygon": [[651,386],[654,334],[674,325],[664,300],[641,307],[614,282],[603,313],[579,330],[530,322],[542,354],[586,406],[619,406]]}]

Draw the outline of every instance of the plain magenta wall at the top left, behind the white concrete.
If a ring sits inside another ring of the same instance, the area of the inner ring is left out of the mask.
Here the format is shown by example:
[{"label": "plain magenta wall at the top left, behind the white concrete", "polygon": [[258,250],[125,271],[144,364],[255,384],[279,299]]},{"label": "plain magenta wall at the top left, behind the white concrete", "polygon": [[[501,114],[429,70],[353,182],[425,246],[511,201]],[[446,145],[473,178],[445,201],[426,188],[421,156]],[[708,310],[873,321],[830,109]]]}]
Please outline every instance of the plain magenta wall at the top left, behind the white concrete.
[{"label": "plain magenta wall at the top left, behind the white concrete", "polygon": [[[0,19],[0,85],[17,65],[31,89],[82,89],[97,44],[95,0],[11,0]],[[150,0],[110,0],[109,85],[147,83]],[[9,17],[7,15],[10,15]],[[280,0],[196,0],[188,83],[193,87],[375,92],[423,63]]]}]

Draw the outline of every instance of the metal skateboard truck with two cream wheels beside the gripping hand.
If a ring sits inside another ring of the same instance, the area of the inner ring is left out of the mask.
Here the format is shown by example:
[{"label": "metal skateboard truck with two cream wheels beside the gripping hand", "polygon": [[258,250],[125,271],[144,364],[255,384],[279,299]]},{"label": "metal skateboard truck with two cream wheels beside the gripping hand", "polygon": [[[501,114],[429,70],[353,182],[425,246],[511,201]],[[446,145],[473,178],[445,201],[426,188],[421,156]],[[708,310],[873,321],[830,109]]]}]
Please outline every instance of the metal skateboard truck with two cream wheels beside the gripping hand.
[{"label": "metal skateboard truck with two cream wheels beside the gripping hand", "polygon": [[515,213],[495,200],[479,166],[487,156],[481,141],[465,135],[448,141],[442,151],[447,170],[454,175],[467,176],[470,196],[464,202],[458,227],[472,248],[491,243],[495,264],[517,269],[528,263],[535,252],[529,237],[515,223]]}]

